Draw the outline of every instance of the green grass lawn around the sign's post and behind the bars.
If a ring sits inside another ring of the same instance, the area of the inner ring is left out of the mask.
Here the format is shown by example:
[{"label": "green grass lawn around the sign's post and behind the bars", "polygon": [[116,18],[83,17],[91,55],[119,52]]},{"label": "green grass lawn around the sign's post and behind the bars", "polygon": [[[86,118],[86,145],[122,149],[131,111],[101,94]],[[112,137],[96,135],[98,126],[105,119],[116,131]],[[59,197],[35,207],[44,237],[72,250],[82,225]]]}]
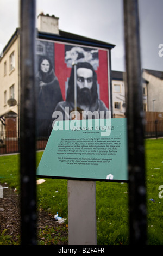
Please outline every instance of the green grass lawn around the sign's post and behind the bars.
[{"label": "green grass lawn around the sign's post and behind the bars", "polygon": [[[148,244],[163,245],[163,139],[148,139],[146,187]],[[42,153],[37,153],[39,163]],[[0,157],[1,183],[19,190],[19,155]],[[67,180],[45,179],[37,185],[41,208],[67,219]],[[160,197],[159,197],[160,192]],[[153,200],[150,200],[153,199]],[[128,245],[128,184],[96,182],[97,245]]]}]

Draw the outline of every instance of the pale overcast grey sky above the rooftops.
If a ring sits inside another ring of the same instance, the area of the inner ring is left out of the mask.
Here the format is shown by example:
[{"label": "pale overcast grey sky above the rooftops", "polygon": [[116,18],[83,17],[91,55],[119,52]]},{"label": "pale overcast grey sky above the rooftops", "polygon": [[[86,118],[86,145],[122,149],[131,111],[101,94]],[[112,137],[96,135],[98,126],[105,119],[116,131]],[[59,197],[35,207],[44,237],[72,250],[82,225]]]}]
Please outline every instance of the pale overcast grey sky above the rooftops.
[{"label": "pale overcast grey sky above the rooftops", "polygon": [[[112,70],[124,71],[123,0],[37,0],[36,16],[59,17],[59,29],[116,45]],[[163,1],[140,0],[142,68],[163,71]],[[0,45],[4,47],[19,26],[19,0],[0,0]]]}]

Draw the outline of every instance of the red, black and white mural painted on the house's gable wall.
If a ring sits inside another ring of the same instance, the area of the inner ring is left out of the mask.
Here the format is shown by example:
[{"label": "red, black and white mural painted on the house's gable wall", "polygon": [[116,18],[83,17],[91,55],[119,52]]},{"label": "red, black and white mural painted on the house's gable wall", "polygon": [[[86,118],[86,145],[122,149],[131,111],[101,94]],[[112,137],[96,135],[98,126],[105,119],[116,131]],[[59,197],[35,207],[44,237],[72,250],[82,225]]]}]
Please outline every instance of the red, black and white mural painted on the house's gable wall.
[{"label": "red, black and white mural painted on the house's gable wall", "polygon": [[110,110],[108,50],[38,39],[36,55],[39,136],[50,135],[54,111],[64,115],[65,107],[70,112],[74,109],[74,62],[77,107],[92,112]]}]

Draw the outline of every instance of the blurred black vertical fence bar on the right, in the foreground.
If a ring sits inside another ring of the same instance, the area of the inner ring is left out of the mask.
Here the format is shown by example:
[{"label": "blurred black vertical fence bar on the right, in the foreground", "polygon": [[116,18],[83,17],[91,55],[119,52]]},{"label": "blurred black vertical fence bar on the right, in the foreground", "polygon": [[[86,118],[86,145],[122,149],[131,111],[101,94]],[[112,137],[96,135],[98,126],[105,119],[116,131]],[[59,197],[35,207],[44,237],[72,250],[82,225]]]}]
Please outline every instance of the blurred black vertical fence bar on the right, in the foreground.
[{"label": "blurred black vertical fence bar on the right, in the foreground", "polygon": [[146,245],[146,187],[137,0],[123,0],[127,72],[130,244]]}]

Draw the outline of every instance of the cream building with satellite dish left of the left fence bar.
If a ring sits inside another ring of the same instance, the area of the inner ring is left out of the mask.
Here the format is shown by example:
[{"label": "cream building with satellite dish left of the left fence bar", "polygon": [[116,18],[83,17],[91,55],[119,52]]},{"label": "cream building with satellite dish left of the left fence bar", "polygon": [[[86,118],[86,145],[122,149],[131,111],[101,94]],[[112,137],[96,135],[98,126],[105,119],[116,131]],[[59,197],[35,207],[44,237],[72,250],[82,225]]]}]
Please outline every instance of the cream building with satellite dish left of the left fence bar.
[{"label": "cream building with satellite dish left of the left fence bar", "polygon": [[[0,134],[2,132],[13,132],[16,136],[18,116],[18,94],[19,94],[19,39],[18,29],[12,35],[3,50],[0,58]],[[4,126],[5,124],[5,126]],[[2,139],[2,138],[1,138]]]}]

